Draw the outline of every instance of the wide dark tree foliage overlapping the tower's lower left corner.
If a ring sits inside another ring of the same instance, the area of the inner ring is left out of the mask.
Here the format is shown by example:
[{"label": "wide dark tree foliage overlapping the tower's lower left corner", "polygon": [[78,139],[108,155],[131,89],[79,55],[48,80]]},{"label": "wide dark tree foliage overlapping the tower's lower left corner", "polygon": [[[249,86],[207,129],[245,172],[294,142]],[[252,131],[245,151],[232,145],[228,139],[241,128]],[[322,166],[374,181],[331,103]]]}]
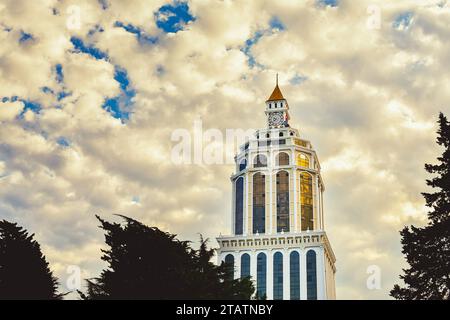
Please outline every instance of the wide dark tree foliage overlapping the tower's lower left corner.
[{"label": "wide dark tree foliage overlapping the tower's lower left corner", "polygon": [[83,299],[250,299],[249,279],[233,280],[231,268],[211,263],[213,249],[202,237],[198,250],[188,241],[121,216],[124,224],[97,216],[108,249],[108,267],[87,280]]}]

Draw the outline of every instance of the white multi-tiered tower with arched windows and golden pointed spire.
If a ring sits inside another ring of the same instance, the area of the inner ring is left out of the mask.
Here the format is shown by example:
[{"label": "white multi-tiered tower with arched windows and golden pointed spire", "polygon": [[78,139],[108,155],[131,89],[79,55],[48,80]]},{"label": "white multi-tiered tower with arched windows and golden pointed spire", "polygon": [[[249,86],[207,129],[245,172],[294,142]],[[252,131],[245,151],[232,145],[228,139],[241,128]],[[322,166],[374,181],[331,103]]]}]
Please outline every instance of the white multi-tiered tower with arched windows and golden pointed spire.
[{"label": "white multi-tiered tower with arched windows and golden pointed spire", "polygon": [[289,125],[278,86],[267,127],[235,156],[231,235],[217,238],[219,262],[251,276],[258,298],[335,299],[335,256],[324,230],[324,183],[311,143]]}]

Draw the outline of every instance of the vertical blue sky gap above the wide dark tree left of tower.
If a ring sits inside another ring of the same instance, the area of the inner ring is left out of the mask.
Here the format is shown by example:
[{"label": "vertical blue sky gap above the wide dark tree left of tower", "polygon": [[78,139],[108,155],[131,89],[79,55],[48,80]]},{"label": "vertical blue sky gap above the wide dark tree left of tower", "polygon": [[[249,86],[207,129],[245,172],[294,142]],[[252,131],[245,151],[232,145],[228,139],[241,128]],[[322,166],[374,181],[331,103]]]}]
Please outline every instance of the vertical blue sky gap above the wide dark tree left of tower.
[{"label": "vertical blue sky gap above the wide dark tree left of tower", "polygon": [[131,107],[133,105],[133,98],[136,96],[136,91],[131,88],[128,73],[125,69],[116,66],[114,79],[120,85],[121,93],[114,98],[107,98],[103,104],[103,109],[111,114],[116,119],[120,119],[122,123],[130,119]]}]

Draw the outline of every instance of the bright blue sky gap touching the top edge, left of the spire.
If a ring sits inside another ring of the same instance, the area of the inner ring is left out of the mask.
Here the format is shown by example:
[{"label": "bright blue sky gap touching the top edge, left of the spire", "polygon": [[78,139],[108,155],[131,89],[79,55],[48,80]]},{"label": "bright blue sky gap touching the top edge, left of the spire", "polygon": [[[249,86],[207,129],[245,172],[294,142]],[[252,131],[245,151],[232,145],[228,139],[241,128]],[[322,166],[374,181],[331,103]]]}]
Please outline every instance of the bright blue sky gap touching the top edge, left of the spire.
[{"label": "bright blue sky gap touching the top edge, left of the spire", "polygon": [[166,33],[176,33],[190,21],[195,21],[195,17],[189,13],[187,2],[178,0],[159,8],[155,19],[157,27]]}]

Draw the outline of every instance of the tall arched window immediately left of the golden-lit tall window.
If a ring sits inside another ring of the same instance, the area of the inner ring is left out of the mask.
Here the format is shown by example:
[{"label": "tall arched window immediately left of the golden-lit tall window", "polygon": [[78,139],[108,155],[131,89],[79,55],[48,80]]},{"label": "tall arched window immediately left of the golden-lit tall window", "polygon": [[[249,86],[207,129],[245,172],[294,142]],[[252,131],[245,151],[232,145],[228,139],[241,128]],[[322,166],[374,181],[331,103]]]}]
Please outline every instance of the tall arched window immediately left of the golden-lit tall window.
[{"label": "tall arched window immediately left of the golden-lit tall window", "polygon": [[277,173],[277,232],[289,232],[289,173]]}]

